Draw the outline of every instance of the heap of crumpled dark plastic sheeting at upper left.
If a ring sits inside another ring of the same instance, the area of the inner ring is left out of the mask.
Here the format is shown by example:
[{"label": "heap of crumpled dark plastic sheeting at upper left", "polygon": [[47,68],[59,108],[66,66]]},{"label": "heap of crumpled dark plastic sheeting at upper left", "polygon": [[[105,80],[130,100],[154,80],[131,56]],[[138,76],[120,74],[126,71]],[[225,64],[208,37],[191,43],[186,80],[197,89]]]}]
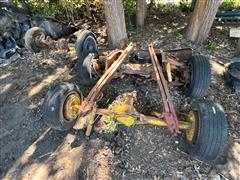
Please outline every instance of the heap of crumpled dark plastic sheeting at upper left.
[{"label": "heap of crumpled dark plastic sheeting at upper left", "polygon": [[[42,37],[45,40],[46,37],[57,40],[69,36],[74,31],[74,27],[59,22],[55,18],[31,15],[27,9],[19,9],[8,1],[0,1],[0,67],[18,59],[21,48],[26,46],[24,40],[26,32],[32,27],[38,27],[45,35]],[[36,31],[31,31],[28,35],[32,36],[33,33],[39,35],[39,30],[37,34]],[[49,43],[46,42],[46,44]]]}]

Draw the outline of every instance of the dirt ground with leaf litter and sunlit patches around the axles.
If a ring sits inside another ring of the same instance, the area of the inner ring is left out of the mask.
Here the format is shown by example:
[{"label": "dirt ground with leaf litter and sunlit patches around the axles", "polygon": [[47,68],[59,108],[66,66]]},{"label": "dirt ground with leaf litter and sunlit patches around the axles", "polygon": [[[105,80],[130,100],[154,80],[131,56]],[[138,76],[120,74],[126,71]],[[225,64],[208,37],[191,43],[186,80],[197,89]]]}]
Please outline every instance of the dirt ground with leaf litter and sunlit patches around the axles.
[{"label": "dirt ground with leaf litter and sunlit patches around the axles", "polygon": [[[156,48],[192,47],[212,62],[212,80],[204,97],[220,103],[229,121],[228,152],[220,165],[200,162],[184,151],[183,134],[173,136],[168,129],[150,125],[124,127],[116,132],[100,121],[86,138],[83,131],[55,131],[42,120],[41,105],[48,89],[62,81],[79,85],[86,96],[89,88],[79,84],[71,51],[33,54],[24,51],[21,59],[0,69],[0,179],[238,179],[240,171],[240,97],[226,84],[224,67],[234,56],[235,40],[228,27],[214,25],[208,43],[196,48],[178,39],[186,26],[186,16],[153,16],[147,28],[130,30],[130,41],[138,49],[153,42]],[[170,19],[170,20],[169,20]],[[105,26],[85,23],[104,44]],[[216,49],[209,42],[217,43]],[[196,99],[184,96],[181,88],[171,87],[177,113],[184,115]],[[104,90],[99,107],[108,107],[126,93],[135,93],[135,108],[144,114],[161,111],[156,82],[137,75],[114,79]],[[113,123],[113,122],[112,122]],[[114,126],[114,123],[113,123]]]}]

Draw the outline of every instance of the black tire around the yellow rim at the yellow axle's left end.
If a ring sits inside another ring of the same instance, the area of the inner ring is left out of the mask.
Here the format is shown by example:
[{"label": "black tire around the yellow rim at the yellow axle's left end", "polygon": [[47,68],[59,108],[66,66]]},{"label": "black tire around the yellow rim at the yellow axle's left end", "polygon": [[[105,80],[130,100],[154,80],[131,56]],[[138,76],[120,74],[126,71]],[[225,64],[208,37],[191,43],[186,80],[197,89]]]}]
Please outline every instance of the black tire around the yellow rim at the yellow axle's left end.
[{"label": "black tire around the yellow rim at the yellow axle's left end", "polygon": [[43,102],[43,120],[51,128],[65,131],[74,126],[76,120],[67,121],[63,114],[63,106],[66,98],[77,93],[82,101],[82,93],[77,86],[71,83],[62,83],[51,88]]}]

